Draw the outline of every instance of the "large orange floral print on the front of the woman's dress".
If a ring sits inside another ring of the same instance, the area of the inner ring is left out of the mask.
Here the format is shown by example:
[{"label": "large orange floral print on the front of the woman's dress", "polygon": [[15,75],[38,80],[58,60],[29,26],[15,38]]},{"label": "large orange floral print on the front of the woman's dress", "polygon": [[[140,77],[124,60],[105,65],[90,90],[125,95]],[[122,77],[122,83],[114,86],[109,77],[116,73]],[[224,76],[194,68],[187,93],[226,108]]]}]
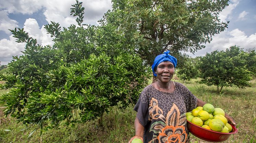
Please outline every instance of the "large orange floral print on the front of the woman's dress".
[{"label": "large orange floral print on the front of the woman's dress", "polygon": [[165,118],[163,111],[158,106],[158,101],[152,98],[149,105],[149,120],[152,119],[160,119],[160,121],[156,121],[151,125],[150,131],[153,131],[154,135],[150,143],[155,143],[156,140],[158,140],[159,143],[186,142],[186,115],[180,115],[176,104],[173,104]]}]

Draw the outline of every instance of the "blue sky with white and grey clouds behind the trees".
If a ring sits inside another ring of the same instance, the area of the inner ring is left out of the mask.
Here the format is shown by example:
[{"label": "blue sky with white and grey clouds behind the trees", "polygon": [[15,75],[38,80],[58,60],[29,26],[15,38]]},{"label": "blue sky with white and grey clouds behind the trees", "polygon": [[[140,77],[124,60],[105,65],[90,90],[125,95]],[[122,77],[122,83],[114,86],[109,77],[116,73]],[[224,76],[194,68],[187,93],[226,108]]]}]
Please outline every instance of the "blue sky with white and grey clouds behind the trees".
[{"label": "blue sky with white and grey clouds behind the trees", "polygon": [[[112,9],[111,0],[80,0],[83,2],[83,24],[97,25],[107,10]],[[30,37],[36,38],[38,44],[52,45],[50,35],[46,33],[44,25],[54,21],[61,27],[77,25],[75,18],[70,15],[71,5],[75,0],[0,0],[0,61],[7,65],[12,56],[22,55],[25,44],[15,42],[8,29],[24,28]],[[206,48],[195,54],[187,53],[191,57],[204,56],[215,50],[225,50],[237,45],[244,50],[256,49],[256,0],[230,0],[221,13],[223,22],[229,21],[228,28],[213,36]]]}]

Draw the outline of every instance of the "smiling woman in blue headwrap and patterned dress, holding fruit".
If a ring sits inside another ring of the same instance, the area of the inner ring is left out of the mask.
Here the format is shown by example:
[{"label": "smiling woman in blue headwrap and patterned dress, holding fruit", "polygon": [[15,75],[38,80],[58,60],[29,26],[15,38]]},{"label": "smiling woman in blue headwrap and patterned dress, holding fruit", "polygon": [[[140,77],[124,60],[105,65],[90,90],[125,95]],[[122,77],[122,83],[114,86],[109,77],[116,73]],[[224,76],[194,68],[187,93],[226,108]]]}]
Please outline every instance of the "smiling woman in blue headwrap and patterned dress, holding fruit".
[{"label": "smiling woman in blue headwrap and patterned dress, holding fruit", "polygon": [[[136,135],[129,143],[134,138],[139,138],[144,143],[189,142],[186,112],[206,104],[184,85],[171,81],[177,59],[169,53],[167,51],[158,55],[154,60],[152,71],[158,80],[143,89],[135,105]],[[235,125],[229,115],[226,114],[225,117]]]}]

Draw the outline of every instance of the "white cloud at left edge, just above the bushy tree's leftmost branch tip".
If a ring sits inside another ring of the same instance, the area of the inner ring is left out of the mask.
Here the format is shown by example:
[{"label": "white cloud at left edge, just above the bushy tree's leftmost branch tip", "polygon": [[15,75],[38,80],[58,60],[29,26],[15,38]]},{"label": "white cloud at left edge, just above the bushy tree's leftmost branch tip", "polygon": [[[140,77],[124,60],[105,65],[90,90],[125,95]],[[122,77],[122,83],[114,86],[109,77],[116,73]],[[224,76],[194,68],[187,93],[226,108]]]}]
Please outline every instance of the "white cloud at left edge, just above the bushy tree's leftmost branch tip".
[{"label": "white cloud at left edge, just above the bushy tree's leftmost branch tip", "polygon": [[16,20],[10,19],[6,11],[0,11],[0,19],[0,30],[7,34],[11,34],[11,31],[8,29],[14,29],[15,27],[18,27],[18,22]]}]

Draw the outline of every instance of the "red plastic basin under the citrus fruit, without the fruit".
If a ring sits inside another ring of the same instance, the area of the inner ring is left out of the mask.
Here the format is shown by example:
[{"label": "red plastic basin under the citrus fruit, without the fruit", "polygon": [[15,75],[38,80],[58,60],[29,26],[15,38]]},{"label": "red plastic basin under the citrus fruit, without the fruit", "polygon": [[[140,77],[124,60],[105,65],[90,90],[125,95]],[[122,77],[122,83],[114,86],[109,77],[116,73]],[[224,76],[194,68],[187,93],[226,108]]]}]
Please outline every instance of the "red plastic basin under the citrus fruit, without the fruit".
[{"label": "red plastic basin under the citrus fruit, without the fruit", "polygon": [[197,138],[200,138],[202,140],[209,141],[209,142],[223,142],[227,140],[231,134],[237,133],[238,130],[236,129],[236,127],[233,125],[231,126],[232,126],[232,132],[222,133],[222,132],[216,132],[216,131],[199,127],[187,120],[187,127],[189,132],[195,135]]}]

